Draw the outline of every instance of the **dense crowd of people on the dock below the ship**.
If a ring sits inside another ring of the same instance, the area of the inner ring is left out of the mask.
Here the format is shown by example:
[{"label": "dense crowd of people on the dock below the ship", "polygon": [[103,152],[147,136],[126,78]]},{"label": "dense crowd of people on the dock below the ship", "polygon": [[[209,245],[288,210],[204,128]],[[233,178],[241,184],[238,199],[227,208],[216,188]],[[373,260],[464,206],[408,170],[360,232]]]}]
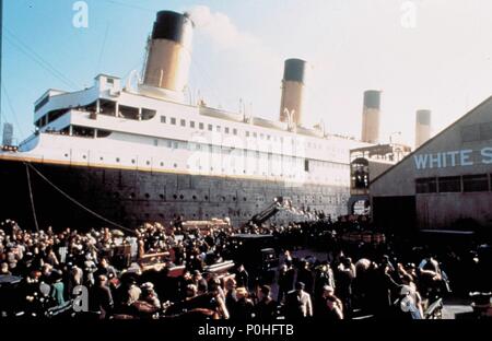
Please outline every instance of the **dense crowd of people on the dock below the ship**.
[{"label": "dense crowd of people on the dock below the ship", "polygon": [[[26,231],[3,222],[0,275],[17,282],[15,295],[0,299],[0,310],[28,317],[67,306],[72,311],[74,302],[84,306],[80,299],[86,291],[85,309],[75,310],[101,319],[343,319],[360,311],[376,318],[424,318],[426,299],[449,291],[445,272],[427,250],[399,255],[391,243],[343,245],[333,225],[212,226],[203,233],[185,231],[176,221],[169,227],[144,224],[132,233],[82,233]],[[208,271],[233,258],[229,237],[238,232],[276,236],[280,264],[273,280],[256,272],[250,278],[243,263],[227,273]],[[329,232],[326,259],[295,257],[295,249],[321,232]],[[159,259],[159,271],[144,268],[144,259]],[[5,284],[0,285],[1,291]]]}]

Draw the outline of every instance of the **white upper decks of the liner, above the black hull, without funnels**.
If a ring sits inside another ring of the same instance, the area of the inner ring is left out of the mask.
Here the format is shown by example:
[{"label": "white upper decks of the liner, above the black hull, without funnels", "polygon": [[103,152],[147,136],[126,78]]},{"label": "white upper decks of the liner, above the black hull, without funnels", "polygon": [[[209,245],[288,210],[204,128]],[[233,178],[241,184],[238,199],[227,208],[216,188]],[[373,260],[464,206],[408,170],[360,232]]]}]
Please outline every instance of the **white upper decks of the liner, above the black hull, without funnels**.
[{"label": "white upper decks of the liner, above the black hull, without funnels", "polygon": [[348,187],[349,151],[364,145],[145,96],[105,74],[84,91],[50,90],[35,107],[38,133],[21,154],[44,162]]}]

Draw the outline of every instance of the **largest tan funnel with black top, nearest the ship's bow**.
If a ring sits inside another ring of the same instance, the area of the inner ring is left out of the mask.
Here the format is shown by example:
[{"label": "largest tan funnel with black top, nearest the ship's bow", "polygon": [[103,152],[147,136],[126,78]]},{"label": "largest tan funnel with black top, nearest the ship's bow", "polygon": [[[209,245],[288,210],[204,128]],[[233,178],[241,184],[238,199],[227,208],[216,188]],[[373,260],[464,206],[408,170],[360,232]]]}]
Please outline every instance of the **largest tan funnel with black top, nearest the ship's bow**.
[{"label": "largest tan funnel with black top, nearest the ship's bow", "polygon": [[191,63],[194,23],[187,14],[161,11],[148,45],[144,92],[184,97]]}]

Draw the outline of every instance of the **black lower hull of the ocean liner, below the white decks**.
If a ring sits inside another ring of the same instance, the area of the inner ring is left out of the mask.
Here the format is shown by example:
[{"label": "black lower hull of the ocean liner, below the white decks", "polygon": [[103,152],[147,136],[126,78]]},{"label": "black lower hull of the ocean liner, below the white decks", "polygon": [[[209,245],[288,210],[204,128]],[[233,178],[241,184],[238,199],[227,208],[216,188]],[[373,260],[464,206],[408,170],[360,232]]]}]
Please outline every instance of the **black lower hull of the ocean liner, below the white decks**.
[{"label": "black lower hull of the ocean liner, below the white decks", "polygon": [[[24,228],[35,227],[34,216],[40,228],[110,227],[108,221],[136,228],[143,222],[167,224],[178,215],[186,220],[229,216],[238,226],[276,197],[290,197],[300,209],[331,215],[345,214],[349,198],[349,189],[337,186],[16,160],[0,160],[0,184],[4,199],[0,219],[14,220]],[[281,213],[272,220],[293,219]]]}]

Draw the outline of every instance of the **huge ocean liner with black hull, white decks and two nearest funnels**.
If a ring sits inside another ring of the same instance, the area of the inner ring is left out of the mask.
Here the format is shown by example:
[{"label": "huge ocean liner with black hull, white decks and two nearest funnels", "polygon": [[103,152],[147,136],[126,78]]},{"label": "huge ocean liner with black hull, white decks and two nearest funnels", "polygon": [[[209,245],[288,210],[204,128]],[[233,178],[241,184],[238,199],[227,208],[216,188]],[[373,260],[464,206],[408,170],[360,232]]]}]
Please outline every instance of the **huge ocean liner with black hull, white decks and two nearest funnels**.
[{"label": "huge ocean liner with black hull, white decks and two nearest funnels", "polygon": [[161,11],[141,80],[98,74],[92,87],[43,94],[36,132],[0,152],[0,219],[26,228],[178,215],[237,225],[277,197],[345,214],[350,150],[368,144],[303,126],[306,62],[285,61],[278,121],[189,105],[192,31],[186,13]]}]

